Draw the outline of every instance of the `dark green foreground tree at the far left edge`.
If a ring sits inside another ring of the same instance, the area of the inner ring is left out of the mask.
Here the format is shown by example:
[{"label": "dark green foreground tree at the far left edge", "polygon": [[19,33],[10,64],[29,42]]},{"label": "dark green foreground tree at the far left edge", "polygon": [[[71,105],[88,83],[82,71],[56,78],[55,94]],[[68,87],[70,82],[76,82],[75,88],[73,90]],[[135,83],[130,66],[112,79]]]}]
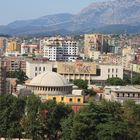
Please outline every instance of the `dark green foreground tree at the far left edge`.
[{"label": "dark green foreground tree at the far left edge", "polygon": [[25,102],[12,95],[0,96],[0,136],[7,138],[21,138],[20,124],[24,114]]}]

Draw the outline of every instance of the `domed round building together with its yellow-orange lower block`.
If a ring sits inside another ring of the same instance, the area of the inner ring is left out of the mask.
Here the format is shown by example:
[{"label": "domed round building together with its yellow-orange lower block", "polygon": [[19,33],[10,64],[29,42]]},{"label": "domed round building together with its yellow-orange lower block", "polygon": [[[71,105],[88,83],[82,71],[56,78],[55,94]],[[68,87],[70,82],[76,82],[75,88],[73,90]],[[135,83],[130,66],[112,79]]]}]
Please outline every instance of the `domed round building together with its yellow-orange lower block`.
[{"label": "domed round building together with its yellow-orange lower block", "polygon": [[28,89],[39,96],[43,102],[52,99],[66,104],[82,104],[82,95],[72,95],[72,85],[55,72],[42,73],[26,84]]}]

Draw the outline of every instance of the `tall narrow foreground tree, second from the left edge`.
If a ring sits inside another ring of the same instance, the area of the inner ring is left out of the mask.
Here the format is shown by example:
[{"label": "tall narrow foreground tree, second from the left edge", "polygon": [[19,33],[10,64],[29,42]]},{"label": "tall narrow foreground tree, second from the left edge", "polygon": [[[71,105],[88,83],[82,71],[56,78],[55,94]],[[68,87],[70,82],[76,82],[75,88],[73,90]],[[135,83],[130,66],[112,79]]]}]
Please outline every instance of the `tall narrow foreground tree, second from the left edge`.
[{"label": "tall narrow foreground tree, second from the left edge", "polygon": [[31,95],[26,100],[25,115],[22,118],[21,124],[24,129],[25,137],[33,140],[38,139],[39,132],[41,130],[41,124],[39,121],[41,100],[35,95]]}]

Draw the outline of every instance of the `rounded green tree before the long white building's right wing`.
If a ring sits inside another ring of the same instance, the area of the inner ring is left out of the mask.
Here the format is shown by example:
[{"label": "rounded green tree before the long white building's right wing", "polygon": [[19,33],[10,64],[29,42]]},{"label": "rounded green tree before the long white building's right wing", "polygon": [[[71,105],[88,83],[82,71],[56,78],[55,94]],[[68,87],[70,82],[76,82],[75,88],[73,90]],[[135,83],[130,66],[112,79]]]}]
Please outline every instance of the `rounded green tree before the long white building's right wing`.
[{"label": "rounded green tree before the long white building's right wing", "polygon": [[112,77],[107,79],[107,84],[112,86],[122,86],[124,85],[124,82],[121,78],[118,77]]}]

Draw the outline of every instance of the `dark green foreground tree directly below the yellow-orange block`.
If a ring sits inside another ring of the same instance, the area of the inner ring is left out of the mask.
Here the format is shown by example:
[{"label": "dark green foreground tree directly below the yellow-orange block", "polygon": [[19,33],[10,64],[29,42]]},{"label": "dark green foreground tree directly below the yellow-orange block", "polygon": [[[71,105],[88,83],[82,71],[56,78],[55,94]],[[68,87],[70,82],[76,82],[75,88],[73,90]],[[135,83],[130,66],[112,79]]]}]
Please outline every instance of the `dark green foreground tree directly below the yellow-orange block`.
[{"label": "dark green foreground tree directly below the yellow-orange block", "polygon": [[50,140],[57,140],[61,134],[61,120],[67,118],[73,111],[63,104],[48,100],[43,104],[42,111],[46,111],[46,115],[42,118],[43,134]]}]

